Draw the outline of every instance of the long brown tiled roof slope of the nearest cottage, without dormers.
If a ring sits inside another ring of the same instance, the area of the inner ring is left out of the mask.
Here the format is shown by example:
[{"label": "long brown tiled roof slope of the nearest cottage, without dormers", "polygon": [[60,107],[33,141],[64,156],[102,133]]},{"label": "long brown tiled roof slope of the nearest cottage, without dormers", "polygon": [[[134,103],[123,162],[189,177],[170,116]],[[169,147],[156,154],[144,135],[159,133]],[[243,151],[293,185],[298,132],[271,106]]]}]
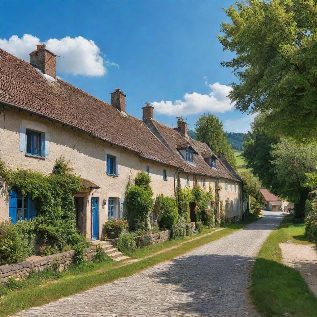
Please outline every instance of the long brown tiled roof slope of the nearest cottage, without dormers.
[{"label": "long brown tiled roof slope of the nearest cottage, without dormers", "polygon": [[146,159],[177,165],[177,160],[139,119],[60,79],[44,78],[28,62],[0,49],[0,103],[78,128]]}]

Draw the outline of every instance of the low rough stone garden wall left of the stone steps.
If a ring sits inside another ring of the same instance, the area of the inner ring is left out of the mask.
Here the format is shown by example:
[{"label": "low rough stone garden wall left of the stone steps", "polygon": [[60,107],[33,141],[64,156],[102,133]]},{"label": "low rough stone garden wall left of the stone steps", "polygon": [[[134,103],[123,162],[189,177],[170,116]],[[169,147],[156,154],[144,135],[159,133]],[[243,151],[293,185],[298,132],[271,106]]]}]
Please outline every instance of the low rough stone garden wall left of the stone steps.
[{"label": "low rough stone garden wall left of the stone steps", "polygon": [[[96,246],[84,249],[84,256],[87,260],[94,257]],[[5,264],[0,266],[0,283],[6,283],[8,278],[22,278],[29,276],[31,270],[41,271],[44,268],[52,266],[54,261],[58,263],[59,270],[66,269],[68,264],[72,262],[74,250],[62,253],[52,254],[50,256],[30,257],[26,261],[17,264]]]}]

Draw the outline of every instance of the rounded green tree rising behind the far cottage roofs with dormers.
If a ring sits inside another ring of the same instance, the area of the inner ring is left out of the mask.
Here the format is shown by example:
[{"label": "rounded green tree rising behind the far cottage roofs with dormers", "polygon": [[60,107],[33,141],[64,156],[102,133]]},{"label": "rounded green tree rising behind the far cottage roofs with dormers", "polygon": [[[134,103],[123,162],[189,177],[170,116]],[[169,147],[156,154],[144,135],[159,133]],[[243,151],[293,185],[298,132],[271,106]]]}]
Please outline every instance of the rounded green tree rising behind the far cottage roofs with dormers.
[{"label": "rounded green tree rising behind the far cottage roofs with dormers", "polygon": [[218,155],[222,153],[231,166],[236,169],[235,153],[226,140],[223,124],[213,114],[201,115],[195,125],[196,140],[206,143]]}]

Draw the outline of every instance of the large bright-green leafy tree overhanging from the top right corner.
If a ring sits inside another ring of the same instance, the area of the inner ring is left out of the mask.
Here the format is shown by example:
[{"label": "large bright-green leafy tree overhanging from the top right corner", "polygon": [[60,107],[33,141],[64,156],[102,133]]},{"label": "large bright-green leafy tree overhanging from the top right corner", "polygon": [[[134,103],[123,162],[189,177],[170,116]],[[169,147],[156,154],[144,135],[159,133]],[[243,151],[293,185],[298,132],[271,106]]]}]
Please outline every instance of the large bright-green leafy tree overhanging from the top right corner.
[{"label": "large bright-green leafy tree overhanging from the top right corner", "polygon": [[270,132],[317,138],[317,0],[249,0],[224,9],[231,23],[218,36],[235,52],[230,100],[236,109],[267,111]]}]

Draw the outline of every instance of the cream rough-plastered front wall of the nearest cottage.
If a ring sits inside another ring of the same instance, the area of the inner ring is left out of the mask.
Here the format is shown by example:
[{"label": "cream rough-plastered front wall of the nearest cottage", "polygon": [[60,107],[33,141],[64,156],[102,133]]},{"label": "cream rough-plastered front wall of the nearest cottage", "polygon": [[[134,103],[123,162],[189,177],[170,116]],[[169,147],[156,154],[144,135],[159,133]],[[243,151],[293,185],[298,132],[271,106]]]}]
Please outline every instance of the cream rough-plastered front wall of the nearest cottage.
[{"label": "cream rough-plastered front wall of the nearest cottage", "polygon": [[[147,166],[152,178],[153,197],[158,194],[174,197],[175,168],[140,159],[137,153],[112,146],[88,134],[79,133],[78,130],[31,116],[23,111],[5,107],[4,112],[1,113],[1,115],[5,113],[5,120],[0,120],[0,160],[5,161],[9,167],[13,169],[20,167],[49,174],[53,170],[56,159],[62,155],[66,161],[69,161],[74,173],[100,186],[100,189],[92,190],[89,194],[83,193],[86,206],[84,214],[87,214],[83,223],[83,234],[88,239],[91,237],[91,197],[99,197],[99,236],[101,236],[102,225],[108,219],[108,198],[115,198],[118,210],[119,199],[124,199],[128,181],[133,182],[137,173],[146,171]],[[45,133],[49,137],[49,155],[41,158],[21,152],[20,126]],[[119,165],[118,176],[107,175],[107,154],[116,157],[116,163]],[[163,169],[166,170],[167,181],[163,179]],[[0,222],[9,220],[8,204],[7,192],[0,189]],[[125,211],[125,203],[123,203],[123,211]],[[118,214],[116,216],[118,217]]]}]

